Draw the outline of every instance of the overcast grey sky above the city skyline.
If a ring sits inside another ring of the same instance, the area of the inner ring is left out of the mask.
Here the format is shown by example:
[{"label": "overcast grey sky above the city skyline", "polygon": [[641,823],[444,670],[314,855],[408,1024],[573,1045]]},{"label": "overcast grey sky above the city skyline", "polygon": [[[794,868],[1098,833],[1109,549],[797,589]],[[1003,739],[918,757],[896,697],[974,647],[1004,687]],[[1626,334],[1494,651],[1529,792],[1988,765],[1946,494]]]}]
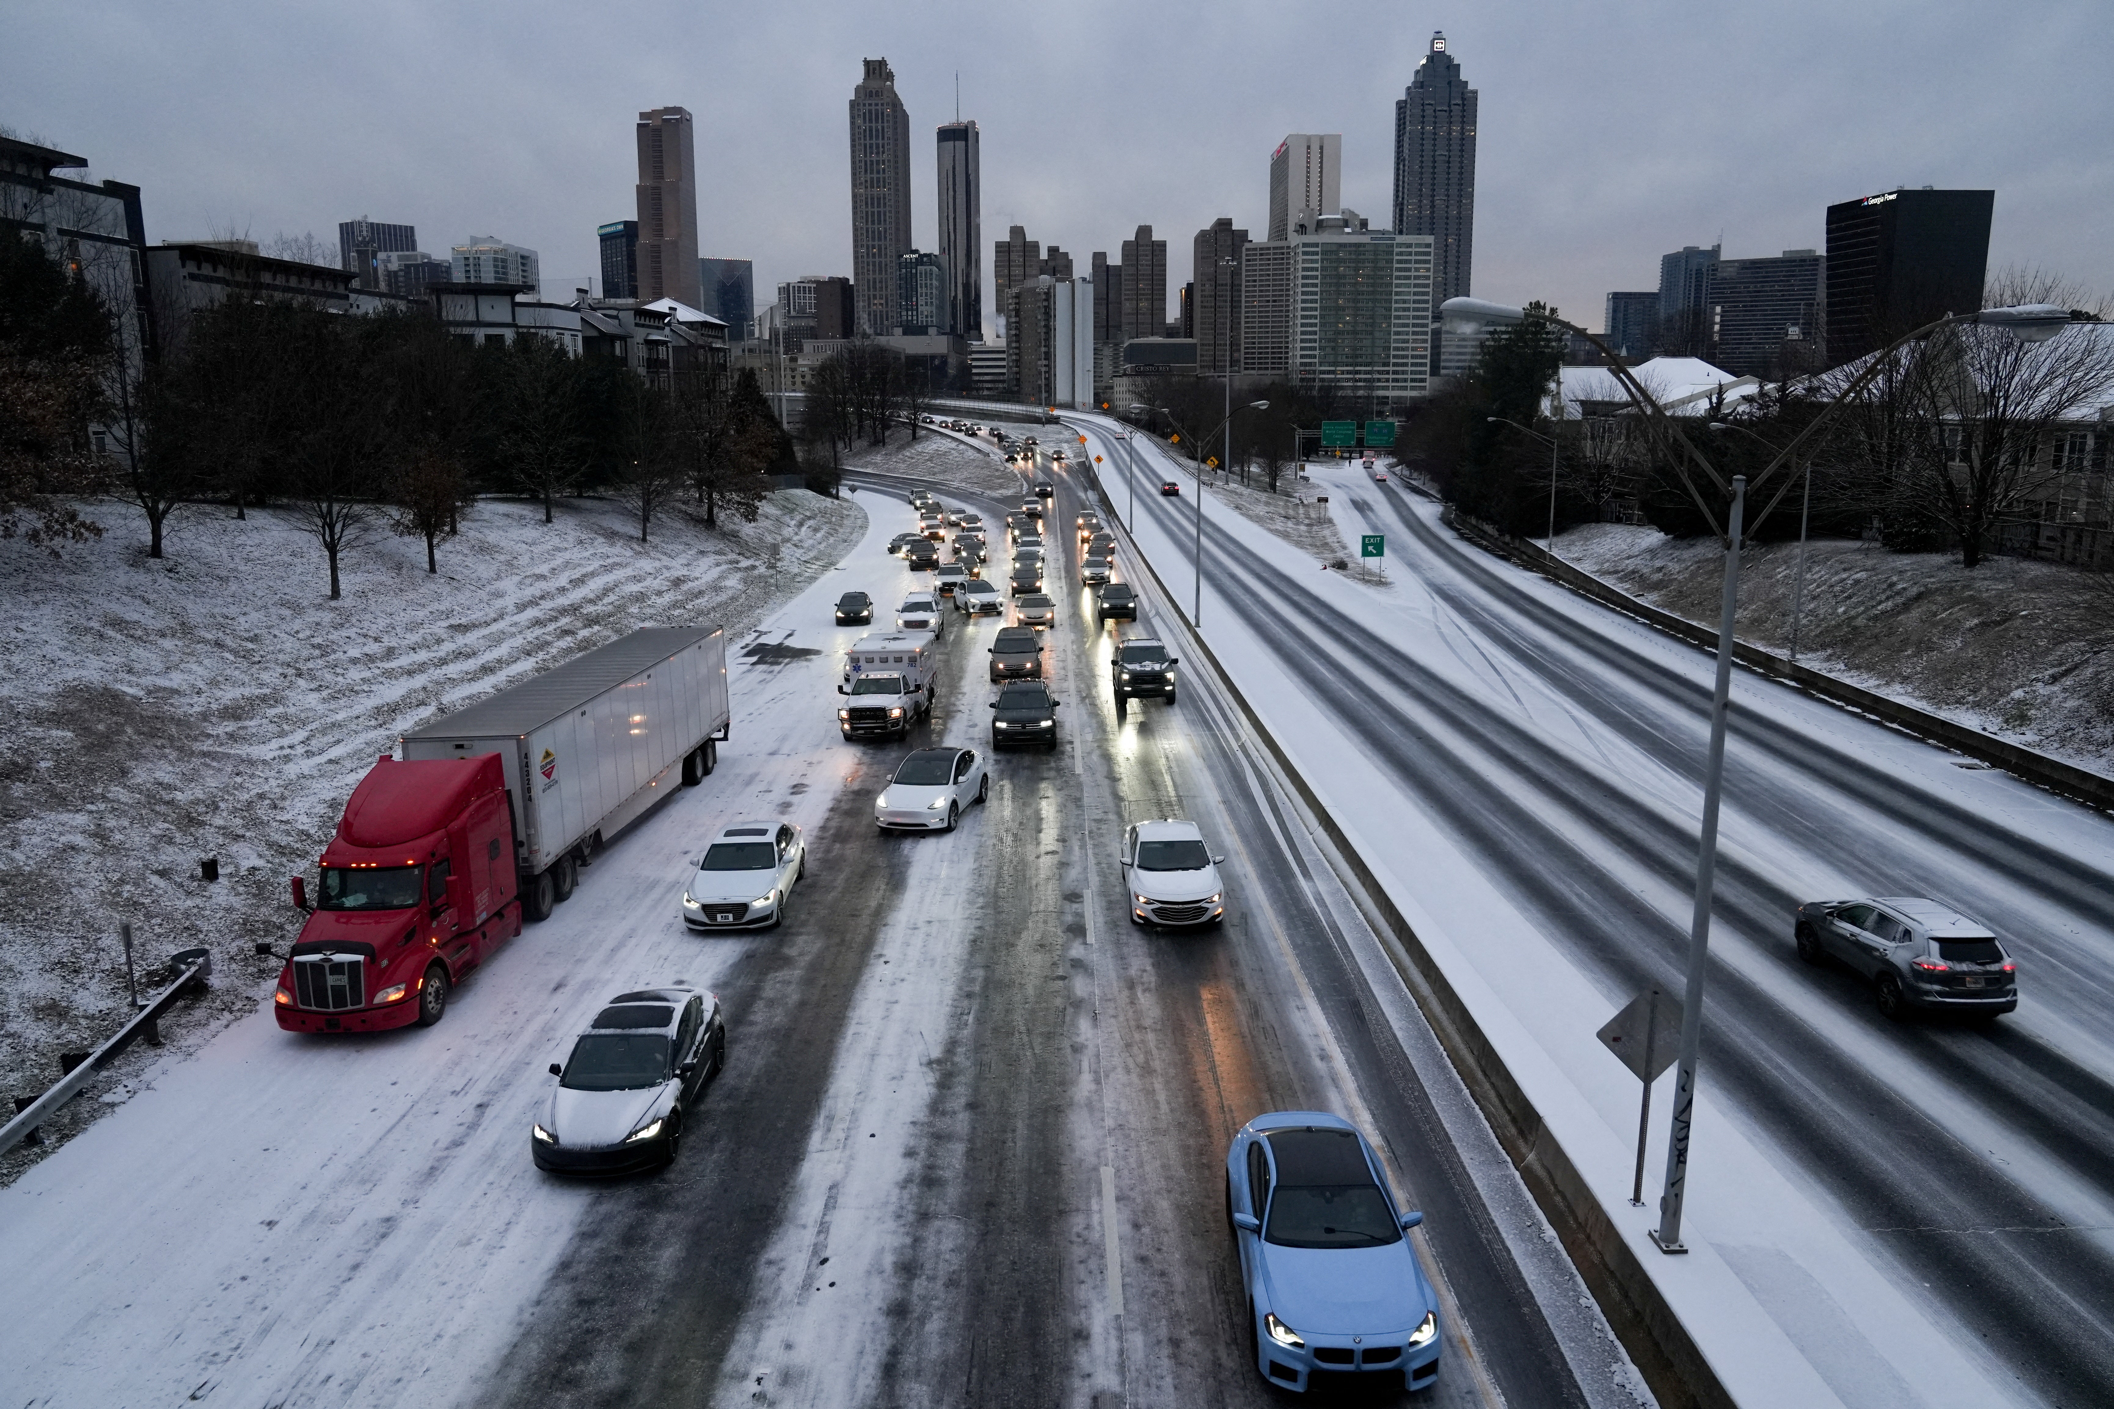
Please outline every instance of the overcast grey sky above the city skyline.
[{"label": "overcast grey sky above the city skyline", "polygon": [[1287,131],[1340,131],[1345,205],[1383,226],[1393,101],[1433,30],[1482,91],[1473,292],[1600,327],[1657,256],[1820,247],[1822,209],[1892,186],[1996,188],[1991,270],[2114,292],[2108,0],[1829,4],[228,4],[6,6],[0,123],[144,188],[148,239],[340,220],[435,253],[499,234],[562,296],[632,218],[643,108],[698,118],[700,253],[850,275],[846,101],[886,57],[911,116],[920,247],[932,129],[983,139],[989,241],[1084,266],[1137,224],[1169,302],[1216,215],[1264,232]]}]

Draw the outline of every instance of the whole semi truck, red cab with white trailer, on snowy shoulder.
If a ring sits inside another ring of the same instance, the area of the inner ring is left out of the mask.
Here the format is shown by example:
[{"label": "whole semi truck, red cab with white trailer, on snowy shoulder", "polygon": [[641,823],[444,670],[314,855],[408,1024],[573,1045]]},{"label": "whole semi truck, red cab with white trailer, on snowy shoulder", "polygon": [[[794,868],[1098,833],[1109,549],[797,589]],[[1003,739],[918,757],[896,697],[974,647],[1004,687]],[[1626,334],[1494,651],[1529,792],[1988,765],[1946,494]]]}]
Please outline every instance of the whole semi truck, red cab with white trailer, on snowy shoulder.
[{"label": "whole semi truck, red cab with white trailer, on snowy shoulder", "polygon": [[[404,735],[345,805],[273,1012],[296,1033],[431,1027],[573,894],[588,853],[698,784],[727,737],[719,627],[653,627]],[[260,953],[273,953],[268,944]]]}]

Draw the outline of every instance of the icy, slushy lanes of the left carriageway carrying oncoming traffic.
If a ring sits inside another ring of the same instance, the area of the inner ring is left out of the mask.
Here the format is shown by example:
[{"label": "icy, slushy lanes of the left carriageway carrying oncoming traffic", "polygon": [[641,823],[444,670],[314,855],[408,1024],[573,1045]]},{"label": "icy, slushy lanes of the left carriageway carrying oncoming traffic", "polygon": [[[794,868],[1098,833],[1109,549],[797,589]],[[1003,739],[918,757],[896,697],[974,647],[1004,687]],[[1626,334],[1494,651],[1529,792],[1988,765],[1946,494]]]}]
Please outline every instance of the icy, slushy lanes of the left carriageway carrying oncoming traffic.
[{"label": "icy, slushy lanes of the left carriageway carrying oncoming traffic", "polygon": [[[949,617],[928,733],[837,737],[858,632],[829,604],[858,587],[886,610],[911,585],[882,551],[903,486],[877,484],[846,568],[729,642],[719,771],[605,849],[440,1027],[323,1041],[260,1010],[0,1191],[13,1403],[1271,1403],[1220,1168],[1243,1120],[1283,1107],[1359,1120],[1427,1210],[1446,1350],[1423,1403],[1638,1403],[1207,674],[1116,720],[1070,486],[1051,520],[1061,748],[996,758],[956,834],[875,832],[905,748],[985,746],[996,630]],[[1116,839],[1152,815],[1194,818],[1228,856],[1222,932],[1125,921]],[[685,862],[746,818],[808,828],[793,919],[691,936]],[[666,980],[715,989],[729,1018],[681,1162],[539,1175],[545,1065],[602,999]]]}]

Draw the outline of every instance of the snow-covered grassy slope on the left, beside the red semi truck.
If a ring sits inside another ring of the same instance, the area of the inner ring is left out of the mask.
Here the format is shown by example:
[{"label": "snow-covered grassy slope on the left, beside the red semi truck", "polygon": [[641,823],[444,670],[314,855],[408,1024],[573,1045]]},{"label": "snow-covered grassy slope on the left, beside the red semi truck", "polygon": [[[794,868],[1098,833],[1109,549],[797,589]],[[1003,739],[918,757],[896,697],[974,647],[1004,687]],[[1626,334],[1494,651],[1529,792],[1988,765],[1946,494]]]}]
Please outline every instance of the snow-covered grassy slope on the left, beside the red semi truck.
[{"label": "snow-covered grassy slope on the left, beside the red semi truck", "polygon": [[[731,646],[865,530],[856,503],[805,490],[772,494],[755,524],[664,513],[649,543],[611,503],[562,501],[545,526],[539,505],[484,501],[438,577],[421,543],[383,532],[347,556],[330,602],[313,539],[273,509],[180,513],[165,560],[106,518],[112,532],[59,558],[0,545],[8,1096],[123,1020],[120,921],[144,965],[214,951],[214,995],[178,1006],[171,1041],[252,1012],[277,972],[252,944],[294,932],[288,877],[404,729],[641,625],[725,625]],[[44,1151],[125,1101],[146,1060],[135,1050],[49,1122]],[[8,1153],[0,1181],[38,1153]]]}]

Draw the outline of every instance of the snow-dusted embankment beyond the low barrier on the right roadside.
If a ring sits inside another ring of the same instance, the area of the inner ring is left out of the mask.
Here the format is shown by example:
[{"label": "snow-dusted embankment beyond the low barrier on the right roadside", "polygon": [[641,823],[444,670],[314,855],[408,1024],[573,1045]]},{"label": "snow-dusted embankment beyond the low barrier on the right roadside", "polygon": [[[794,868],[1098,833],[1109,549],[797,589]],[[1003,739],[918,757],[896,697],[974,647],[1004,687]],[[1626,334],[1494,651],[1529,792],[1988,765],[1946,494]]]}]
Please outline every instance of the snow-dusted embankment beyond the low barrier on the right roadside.
[{"label": "snow-dusted embankment beyond the low barrier on the right roadside", "polygon": [[[1573,566],[1689,621],[1717,625],[1725,558],[1657,528],[1558,534]],[[1740,640],[1791,651],[1797,543],[1740,564]],[[1799,661],[1839,680],[2099,773],[2114,771],[2114,585],[2023,558],[1968,570],[1955,553],[1805,545]]]}]

